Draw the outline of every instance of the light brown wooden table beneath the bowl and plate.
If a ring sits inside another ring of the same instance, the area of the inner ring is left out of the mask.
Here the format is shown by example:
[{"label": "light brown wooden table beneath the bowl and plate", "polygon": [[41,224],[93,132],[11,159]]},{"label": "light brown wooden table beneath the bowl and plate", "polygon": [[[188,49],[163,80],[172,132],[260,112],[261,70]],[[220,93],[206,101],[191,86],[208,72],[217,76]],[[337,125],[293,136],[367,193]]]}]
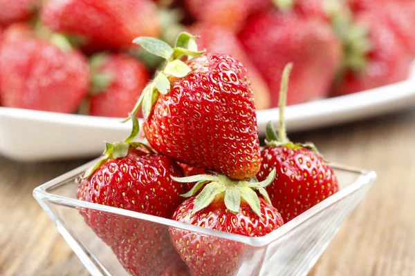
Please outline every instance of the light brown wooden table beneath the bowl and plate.
[{"label": "light brown wooden table beneath the bowl and plate", "polygon": [[[310,275],[415,275],[415,110],[291,135],[327,159],[378,172]],[[32,197],[86,160],[19,164],[0,157],[0,275],[87,275]]]}]

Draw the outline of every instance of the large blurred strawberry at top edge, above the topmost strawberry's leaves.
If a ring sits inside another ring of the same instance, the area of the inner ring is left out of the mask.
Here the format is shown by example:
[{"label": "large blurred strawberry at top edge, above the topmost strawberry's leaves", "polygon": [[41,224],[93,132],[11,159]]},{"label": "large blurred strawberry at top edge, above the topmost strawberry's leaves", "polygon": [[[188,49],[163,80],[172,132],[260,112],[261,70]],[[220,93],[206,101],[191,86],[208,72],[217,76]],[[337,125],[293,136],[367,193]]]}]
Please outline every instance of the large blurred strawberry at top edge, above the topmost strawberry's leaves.
[{"label": "large blurred strawberry at top edge, above the topmost strawberry's leaves", "polygon": [[127,47],[136,37],[160,34],[149,0],[49,0],[41,17],[52,30],[84,37],[95,49]]}]

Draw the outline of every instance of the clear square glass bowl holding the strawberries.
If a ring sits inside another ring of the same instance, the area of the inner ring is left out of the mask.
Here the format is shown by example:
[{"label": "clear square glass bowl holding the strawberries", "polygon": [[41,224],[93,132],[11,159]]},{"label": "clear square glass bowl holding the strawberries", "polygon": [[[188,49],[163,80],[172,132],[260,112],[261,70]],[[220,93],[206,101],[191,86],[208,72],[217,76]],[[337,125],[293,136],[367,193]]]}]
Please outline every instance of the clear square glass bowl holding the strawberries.
[{"label": "clear square glass bowl holding the strawberries", "polygon": [[[82,212],[104,215],[111,221],[129,221],[128,223],[138,229],[138,235],[140,229],[145,228],[158,229],[160,233],[181,228],[194,232],[196,236],[193,237],[214,239],[216,242],[226,244],[239,244],[243,250],[239,253],[234,263],[234,273],[230,273],[230,276],[306,275],[329,245],[344,219],[376,179],[375,172],[333,166],[340,183],[338,193],[321,201],[273,233],[264,237],[245,237],[80,201],[76,197],[77,179],[94,162],[91,161],[48,181],[33,191],[40,206],[44,208],[91,275],[129,275],[129,273],[120,264],[111,248],[86,224]],[[129,246],[129,242],[127,237],[122,241],[125,246]],[[168,247],[171,246],[169,242],[166,244]],[[158,255],[154,257],[159,259],[160,267],[169,262],[170,257],[176,257],[170,256],[176,254],[171,248],[159,249],[161,250],[158,250]],[[140,253],[137,254],[136,257],[141,257]],[[153,270],[150,275],[160,274]]]}]

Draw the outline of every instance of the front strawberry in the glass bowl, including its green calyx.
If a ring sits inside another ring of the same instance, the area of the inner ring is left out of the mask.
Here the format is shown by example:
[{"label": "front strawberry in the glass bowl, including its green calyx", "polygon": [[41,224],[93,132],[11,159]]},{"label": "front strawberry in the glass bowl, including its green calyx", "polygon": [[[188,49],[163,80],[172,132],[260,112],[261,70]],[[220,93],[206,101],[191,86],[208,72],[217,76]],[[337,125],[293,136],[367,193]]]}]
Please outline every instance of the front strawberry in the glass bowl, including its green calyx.
[{"label": "front strawberry in the glass bowl, including its green calyx", "polygon": [[[210,183],[199,195],[178,206],[172,218],[247,237],[267,235],[284,224],[277,209],[267,201],[269,198],[263,188],[274,177],[275,170],[262,183],[232,181],[221,175],[175,178],[178,181],[198,181],[184,196],[192,196],[205,182]],[[252,188],[257,188],[266,199],[258,197]],[[170,228],[169,232],[192,275],[236,275],[243,260],[250,257],[250,248],[238,242],[180,228]]]}]

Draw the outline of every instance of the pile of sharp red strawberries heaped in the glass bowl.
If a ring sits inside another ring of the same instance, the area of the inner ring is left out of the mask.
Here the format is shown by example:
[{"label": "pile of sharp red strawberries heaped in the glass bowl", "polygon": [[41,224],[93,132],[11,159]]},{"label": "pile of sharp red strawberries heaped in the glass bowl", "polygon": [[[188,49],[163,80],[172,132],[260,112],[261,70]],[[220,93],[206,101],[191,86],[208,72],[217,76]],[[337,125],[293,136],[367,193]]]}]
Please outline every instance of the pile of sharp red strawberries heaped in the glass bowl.
[{"label": "pile of sharp red strawberries heaped in the glass bowl", "polygon": [[[164,66],[125,120],[132,121],[131,135],[106,144],[80,181],[78,199],[261,237],[338,191],[315,146],[286,136],[292,63],[282,76],[278,134],[269,123],[261,148],[248,70],[240,61],[200,51],[187,32],[174,48],[151,37],[134,42],[165,59]],[[148,144],[133,141],[140,109]],[[131,275],[236,275],[252,253],[244,244],[190,230],[93,209],[80,213]]]}]

